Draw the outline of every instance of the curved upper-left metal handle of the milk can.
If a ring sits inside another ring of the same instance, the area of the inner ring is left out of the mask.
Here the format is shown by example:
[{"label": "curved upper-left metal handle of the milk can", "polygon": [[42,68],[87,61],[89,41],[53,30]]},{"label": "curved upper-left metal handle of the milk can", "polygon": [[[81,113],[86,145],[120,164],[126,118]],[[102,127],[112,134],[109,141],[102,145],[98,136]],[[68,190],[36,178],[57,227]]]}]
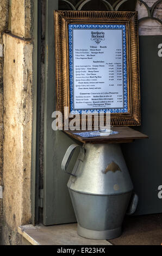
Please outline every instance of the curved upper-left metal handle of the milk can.
[{"label": "curved upper-left metal handle of the milk can", "polygon": [[[65,173],[68,173],[66,171],[66,169],[67,169],[67,166],[68,166],[68,164],[69,164],[69,162],[71,160],[71,157],[72,157],[72,155],[74,153],[74,150],[76,148],[80,148],[80,154],[78,156],[78,160],[81,160],[81,161],[84,160],[84,155],[85,155],[84,148],[79,146],[79,145],[77,145],[77,144],[72,144],[70,147],[68,147],[68,149],[67,149],[67,151],[65,153],[64,159],[63,159],[63,161],[61,163],[61,169],[64,170]],[[74,175],[72,173],[68,173],[68,174],[70,174],[72,176],[76,176],[76,175]]]}]

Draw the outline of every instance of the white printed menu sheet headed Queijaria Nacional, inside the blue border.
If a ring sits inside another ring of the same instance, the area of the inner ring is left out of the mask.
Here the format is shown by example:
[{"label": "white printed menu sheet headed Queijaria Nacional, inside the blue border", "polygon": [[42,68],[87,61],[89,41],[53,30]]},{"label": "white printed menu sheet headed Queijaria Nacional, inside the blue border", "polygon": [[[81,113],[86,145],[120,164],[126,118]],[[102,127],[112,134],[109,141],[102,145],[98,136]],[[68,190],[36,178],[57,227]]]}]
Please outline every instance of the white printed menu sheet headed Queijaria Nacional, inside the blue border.
[{"label": "white printed menu sheet headed Queijaria Nacional, inside the blue border", "polygon": [[73,29],[73,109],[124,107],[122,29]]}]

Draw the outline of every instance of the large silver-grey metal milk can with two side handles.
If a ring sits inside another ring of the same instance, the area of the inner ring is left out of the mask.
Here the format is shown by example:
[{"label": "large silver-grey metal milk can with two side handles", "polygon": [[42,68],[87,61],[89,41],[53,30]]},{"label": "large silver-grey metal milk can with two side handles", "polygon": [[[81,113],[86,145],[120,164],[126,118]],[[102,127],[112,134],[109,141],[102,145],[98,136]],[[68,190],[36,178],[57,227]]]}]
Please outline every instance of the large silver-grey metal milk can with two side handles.
[{"label": "large silver-grey metal milk can with two side handles", "polygon": [[[77,233],[89,239],[118,237],[133,191],[120,145],[73,144],[61,165],[65,172],[78,147],[80,153],[67,183],[78,222]],[[134,213],[137,203],[134,194],[128,214]]]}]

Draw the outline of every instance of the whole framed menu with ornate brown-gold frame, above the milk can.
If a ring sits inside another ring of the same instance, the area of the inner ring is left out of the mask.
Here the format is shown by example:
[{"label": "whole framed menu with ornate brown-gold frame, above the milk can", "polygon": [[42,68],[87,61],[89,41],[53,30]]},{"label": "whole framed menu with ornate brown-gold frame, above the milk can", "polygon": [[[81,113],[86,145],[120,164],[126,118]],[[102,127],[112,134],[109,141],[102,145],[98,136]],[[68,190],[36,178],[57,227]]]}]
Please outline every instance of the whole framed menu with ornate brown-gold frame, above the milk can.
[{"label": "whole framed menu with ornate brown-gold frame, above the milk can", "polygon": [[54,19],[57,110],[140,125],[137,13],[55,11]]}]

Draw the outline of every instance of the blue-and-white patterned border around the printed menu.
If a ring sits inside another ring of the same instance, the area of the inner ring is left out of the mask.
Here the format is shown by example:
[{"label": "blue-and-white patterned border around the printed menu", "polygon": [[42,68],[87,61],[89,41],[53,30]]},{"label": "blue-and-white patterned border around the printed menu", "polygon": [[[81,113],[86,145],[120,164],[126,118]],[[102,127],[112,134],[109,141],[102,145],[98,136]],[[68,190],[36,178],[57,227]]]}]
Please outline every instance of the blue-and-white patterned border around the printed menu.
[{"label": "blue-and-white patterned border around the printed menu", "polygon": [[[124,107],[109,109],[73,109],[73,29],[122,29],[123,34],[123,83],[124,83]],[[125,25],[93,25],[93,24],[70,24],[68,25],[69,63],[70,63],[70,111],[71,114],[88,113],[127,113],[128,92],[127,92],[127,50],[126,50],[126,26]]]}]

